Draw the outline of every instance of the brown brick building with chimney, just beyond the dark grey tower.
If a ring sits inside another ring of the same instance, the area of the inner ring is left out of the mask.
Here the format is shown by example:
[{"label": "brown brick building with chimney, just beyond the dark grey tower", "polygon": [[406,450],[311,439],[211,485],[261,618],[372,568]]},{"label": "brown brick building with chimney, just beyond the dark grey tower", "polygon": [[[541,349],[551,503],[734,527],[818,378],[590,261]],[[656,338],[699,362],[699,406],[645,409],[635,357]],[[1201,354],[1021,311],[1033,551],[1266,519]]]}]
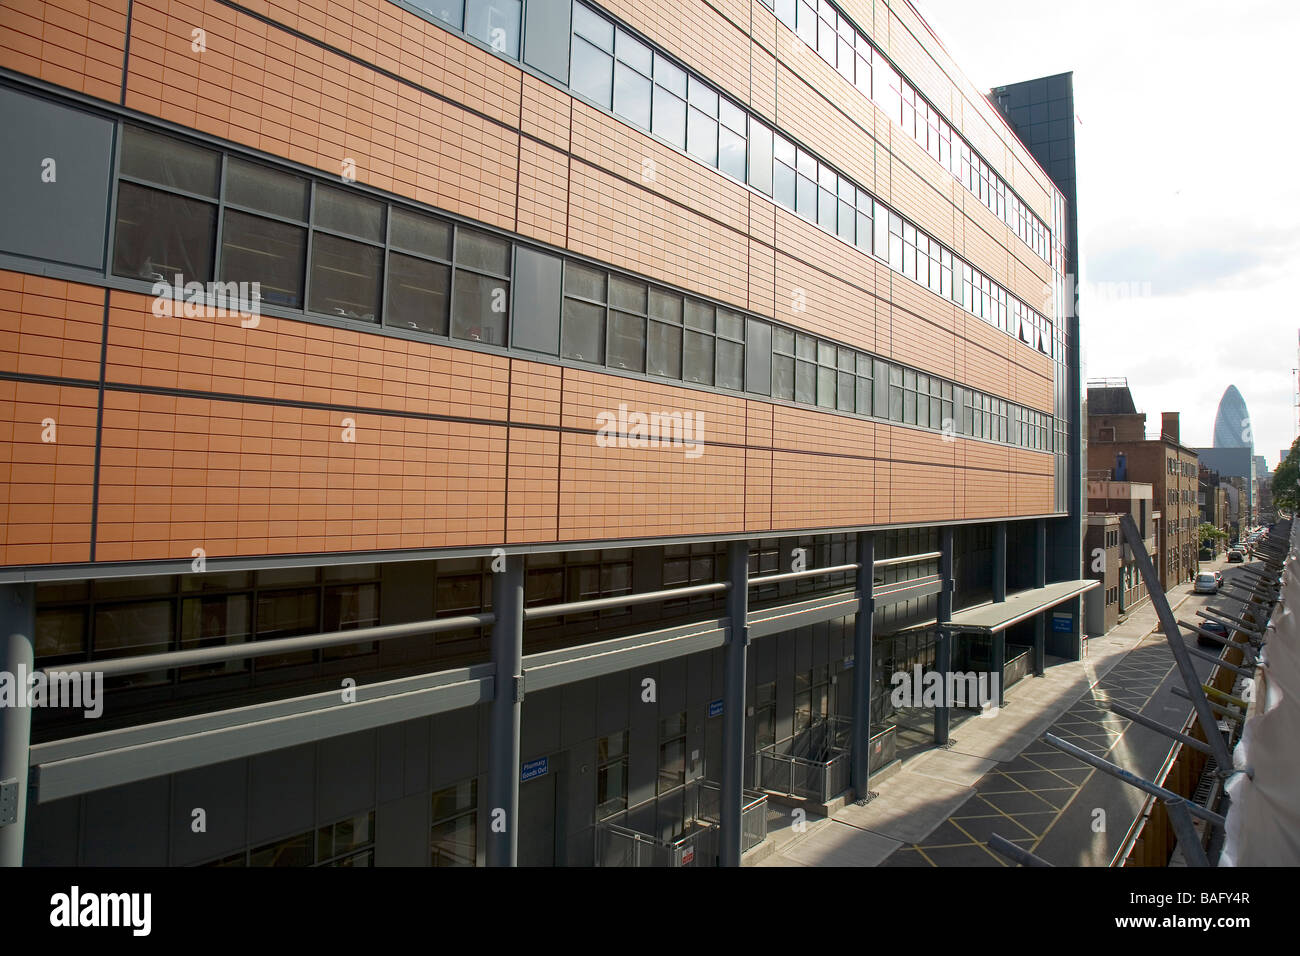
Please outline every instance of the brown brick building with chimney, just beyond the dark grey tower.
[{"label": "brown brick building with chimney, just beyond the dark grey tower", "polygon": [[1138,411],[1126,382],[1088,386],[1088,480],[1132,480],[1154,489],[1162,514],[1157,568],[1165,591],[1199,567],[1199,475],[1196,451],[1179,441],[1178,412],[1162,412],[1160,437],[1148,440],[1147,415]]}]

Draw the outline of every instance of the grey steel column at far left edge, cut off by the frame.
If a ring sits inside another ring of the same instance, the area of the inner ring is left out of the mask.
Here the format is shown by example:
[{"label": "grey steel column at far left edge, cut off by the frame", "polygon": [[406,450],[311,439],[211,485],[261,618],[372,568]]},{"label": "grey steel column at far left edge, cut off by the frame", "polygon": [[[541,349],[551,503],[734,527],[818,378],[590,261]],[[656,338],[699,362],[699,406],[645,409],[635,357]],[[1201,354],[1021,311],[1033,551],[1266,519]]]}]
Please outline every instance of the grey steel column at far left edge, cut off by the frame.
[{"label": "grey steel column at far left edge, cut off by the frame", "polygon": [[35,665],[36,594],[34,584],[0,584],[0,670],[16,682],[22,695],[14,706],[0,708],[0,787],[9,792],[0,805],[10,809],[0,817],[0,866],[22,866],[22,844],[27,831],[27,766],[31,749],[31,708],[26,704],[26,683],[18,675],[31,674]]}]

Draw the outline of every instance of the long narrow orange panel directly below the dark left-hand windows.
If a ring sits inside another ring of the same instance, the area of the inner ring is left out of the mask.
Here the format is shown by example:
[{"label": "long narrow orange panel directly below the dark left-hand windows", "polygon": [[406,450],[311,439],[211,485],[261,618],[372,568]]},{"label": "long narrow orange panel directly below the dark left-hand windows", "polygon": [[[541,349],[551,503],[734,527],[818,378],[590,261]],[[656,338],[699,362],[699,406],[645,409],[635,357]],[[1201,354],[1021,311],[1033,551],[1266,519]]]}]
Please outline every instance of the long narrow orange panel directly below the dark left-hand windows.
[{"label": "long narrow orange panel directly below the dark left-hand windows", "polygon": [[153,315],[112,294],[107,381],[419,415],[504,420],[508,359],[360,329],[261,316]]}]

